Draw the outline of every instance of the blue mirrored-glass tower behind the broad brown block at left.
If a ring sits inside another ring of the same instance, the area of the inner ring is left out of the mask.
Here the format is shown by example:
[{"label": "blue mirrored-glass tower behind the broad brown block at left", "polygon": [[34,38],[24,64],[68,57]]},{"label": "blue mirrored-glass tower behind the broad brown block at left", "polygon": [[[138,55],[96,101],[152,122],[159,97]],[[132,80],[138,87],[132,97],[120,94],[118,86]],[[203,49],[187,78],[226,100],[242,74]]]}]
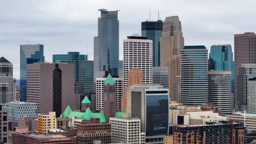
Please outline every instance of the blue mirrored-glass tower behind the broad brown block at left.
[{"label": "blue mirrored-glass tower behind the broad brown block at left", "polygon": [[20,45],[20,100],[27,101],[27,64],[44,62],[44,45]]}]

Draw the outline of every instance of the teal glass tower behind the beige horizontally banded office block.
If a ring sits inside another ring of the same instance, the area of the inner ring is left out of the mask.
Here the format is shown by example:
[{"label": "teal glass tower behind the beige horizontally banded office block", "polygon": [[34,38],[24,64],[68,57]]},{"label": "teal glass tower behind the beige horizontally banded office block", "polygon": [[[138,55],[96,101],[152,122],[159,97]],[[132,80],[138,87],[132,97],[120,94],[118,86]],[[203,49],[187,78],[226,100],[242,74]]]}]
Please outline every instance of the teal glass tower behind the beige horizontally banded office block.
[{"label": "teal glass tower behind the beige horizontally banded office block", "polygon": [[212,45],[209,70],[231,71],[231,89],[235,93],[235,62],[231,45]]}]

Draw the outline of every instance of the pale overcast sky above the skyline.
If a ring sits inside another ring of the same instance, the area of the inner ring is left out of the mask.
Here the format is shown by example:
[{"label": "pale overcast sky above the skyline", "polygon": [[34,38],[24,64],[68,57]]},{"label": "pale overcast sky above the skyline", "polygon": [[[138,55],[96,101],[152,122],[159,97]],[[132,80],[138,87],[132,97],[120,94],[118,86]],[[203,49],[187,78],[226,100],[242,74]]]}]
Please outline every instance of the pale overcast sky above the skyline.
[{"label": "pale overcast sky above the skyline", "polygon": [[141,34],[141,22],[178,15],[185,45],[231,44],[234,34],[256,31],[256,1],[242,0],[0,0],[0,57],[14,65],[19,78],[20,44],[44,44],[44,56],[79,51],[93,59],[93,37],[97,36],[98,9],[120,9],[120,59],[127,35]]}]

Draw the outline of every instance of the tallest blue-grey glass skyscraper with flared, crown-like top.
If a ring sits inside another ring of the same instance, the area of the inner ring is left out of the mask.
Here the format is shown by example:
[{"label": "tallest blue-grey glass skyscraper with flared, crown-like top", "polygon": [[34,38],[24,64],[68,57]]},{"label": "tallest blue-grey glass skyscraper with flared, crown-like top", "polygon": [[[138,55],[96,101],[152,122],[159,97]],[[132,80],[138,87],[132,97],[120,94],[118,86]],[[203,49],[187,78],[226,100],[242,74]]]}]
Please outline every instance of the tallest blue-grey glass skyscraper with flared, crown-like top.
[{"label": "tallest blue-grey glass skyscraper with flared, crown-like top", "polygon": [[107,77],[110,73],[118,77],[119,20],[118,11],[99,9],[98,36],[94,37],[94,79]]}]

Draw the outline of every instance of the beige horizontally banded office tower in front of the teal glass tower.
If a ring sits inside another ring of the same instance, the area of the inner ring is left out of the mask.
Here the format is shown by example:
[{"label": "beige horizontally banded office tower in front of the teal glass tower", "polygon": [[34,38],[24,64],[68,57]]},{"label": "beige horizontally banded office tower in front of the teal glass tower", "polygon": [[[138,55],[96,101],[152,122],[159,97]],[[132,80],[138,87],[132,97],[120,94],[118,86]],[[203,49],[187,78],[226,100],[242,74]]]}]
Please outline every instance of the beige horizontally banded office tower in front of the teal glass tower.
[{"label": "beige horizontally banded office tower in front of the teal glass tower", "polygon": [[208,72],[208,101],[220,110],[220,115],[231,110],[231,71],[211,70]]}]

